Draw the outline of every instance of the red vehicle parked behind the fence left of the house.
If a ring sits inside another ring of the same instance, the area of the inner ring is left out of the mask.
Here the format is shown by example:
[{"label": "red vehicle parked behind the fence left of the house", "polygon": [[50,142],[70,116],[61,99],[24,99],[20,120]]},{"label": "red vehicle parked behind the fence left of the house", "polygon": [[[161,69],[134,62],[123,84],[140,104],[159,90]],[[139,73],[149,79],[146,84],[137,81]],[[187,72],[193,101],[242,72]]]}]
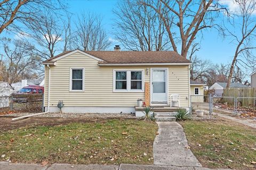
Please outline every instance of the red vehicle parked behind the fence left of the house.
[{"label": "red vehicle parked behind the fence left of the house", "polygon": [[42,101],[43,95],[41,94],[44,94],[44,87],[35,85],[23,87],[12,96],[14,102],[27,103],[30,101]]}]

